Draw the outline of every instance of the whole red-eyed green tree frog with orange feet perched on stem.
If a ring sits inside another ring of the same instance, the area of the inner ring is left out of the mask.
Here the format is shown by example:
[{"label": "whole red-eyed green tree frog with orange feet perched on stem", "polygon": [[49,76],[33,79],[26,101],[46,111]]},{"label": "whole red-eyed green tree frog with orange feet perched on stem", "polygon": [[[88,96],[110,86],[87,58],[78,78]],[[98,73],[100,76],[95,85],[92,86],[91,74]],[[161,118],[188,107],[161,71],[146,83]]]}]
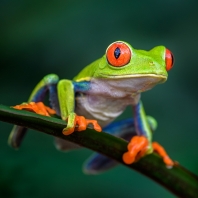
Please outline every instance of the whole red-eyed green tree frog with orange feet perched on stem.
[{"label": "whole red-eyed green tree frog with orange feet perched on stem", "polygon": [[[33,90],[28,103],[16,105],[24,109],[50,116],[60,115],[67,120],[64,135],[83,131],[89,124],[100,132],[105,131],[129,141],[123,161],[131,164],[146,154],[156,151],[164,163],[172,167],[174,162],[158,143],[152,143],[154,118],[146,116],[140,101],[141,92],[167,80],[173,66],[173,55],[164,46],[150,51],[134,49],[124,41],[116,41],[107,47],[100,59],[85,67],[73,80],[59,80],[55,74],[45,76]],[[49,93],[51,107],[43,104]],[[132,106],[134,119],[113,122],[125,108]],[[15,126],[9,142],[18,147],[26,129]],[[136,133],[136,134],[134,134]],[[56,139],[56,147],[66,150],[73,143]],[[96,154],[85,166],[85,172],[98,173],[115,165],[107,157]]]}]

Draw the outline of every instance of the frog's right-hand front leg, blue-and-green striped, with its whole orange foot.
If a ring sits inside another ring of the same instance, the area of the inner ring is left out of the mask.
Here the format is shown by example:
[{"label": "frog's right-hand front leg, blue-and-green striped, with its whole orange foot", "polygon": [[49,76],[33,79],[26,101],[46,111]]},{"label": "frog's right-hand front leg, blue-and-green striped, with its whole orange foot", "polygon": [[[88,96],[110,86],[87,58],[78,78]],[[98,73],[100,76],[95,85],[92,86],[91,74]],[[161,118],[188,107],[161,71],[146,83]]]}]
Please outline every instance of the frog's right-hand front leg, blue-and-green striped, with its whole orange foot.
[{"label": "frog's right-hand front leg, blue-and-green striped, with its whole orange foot", "polygon": [[141,102],[133,106],[134,121],[137,136],[134,136],[127,148],[128,151],[123,154],[123,161],[126,164],[132,164],[146,154],[156,151],[164,163],[172,167],[174,162],[169,158],[163,147],[158,143],[152,143],[152,132],[146,119],[144,108]]}]

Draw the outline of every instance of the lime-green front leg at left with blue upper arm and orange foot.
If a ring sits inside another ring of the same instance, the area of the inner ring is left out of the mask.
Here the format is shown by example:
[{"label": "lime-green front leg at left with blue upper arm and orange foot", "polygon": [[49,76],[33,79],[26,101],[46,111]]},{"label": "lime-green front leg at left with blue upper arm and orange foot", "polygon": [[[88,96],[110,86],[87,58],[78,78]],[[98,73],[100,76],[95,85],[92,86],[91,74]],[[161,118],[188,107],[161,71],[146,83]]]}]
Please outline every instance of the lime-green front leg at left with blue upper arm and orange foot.
[{"label": "lime-green front leg at left with blue upper arm and orange foot", "polygon": [[73,83],[70,80],[61,80],[57,88],[61,118],[67,120],[67,126],[63,129],[64,135],[70,135],[74,130],[83,131],[89,124],[92,124],[96,131],[102,131],[96,120],[86,119],[84,116],[79,116],[74,112],[75,91],[85,91],[87,82]]}]

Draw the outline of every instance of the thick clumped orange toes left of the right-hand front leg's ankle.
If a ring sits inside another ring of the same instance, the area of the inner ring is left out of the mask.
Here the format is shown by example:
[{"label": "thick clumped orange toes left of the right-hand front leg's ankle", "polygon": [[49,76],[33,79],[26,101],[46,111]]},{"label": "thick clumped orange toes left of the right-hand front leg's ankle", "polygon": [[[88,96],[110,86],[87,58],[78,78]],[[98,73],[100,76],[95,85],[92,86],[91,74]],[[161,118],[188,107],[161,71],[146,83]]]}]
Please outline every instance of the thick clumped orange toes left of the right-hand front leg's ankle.
[{"label": "thick clumped orange toes left of the right-hand front leg's ankle", "polygon": [[132,164],[145,155],[149,142],[144,136],[134,136],[129,142],[128,151],[123,154],[122,159],[125,164]]}]

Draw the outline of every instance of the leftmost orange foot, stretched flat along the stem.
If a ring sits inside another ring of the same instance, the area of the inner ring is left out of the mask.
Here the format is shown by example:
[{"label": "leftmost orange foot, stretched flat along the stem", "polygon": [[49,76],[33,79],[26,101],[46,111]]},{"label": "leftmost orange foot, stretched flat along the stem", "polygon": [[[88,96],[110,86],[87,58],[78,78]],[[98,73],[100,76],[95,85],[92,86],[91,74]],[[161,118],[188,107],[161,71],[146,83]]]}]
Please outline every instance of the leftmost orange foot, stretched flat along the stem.
[{"label": "leftmost orange foot, stretched flat along the stem", "polygon": [[19,109],[19,110],[32,111],[34,113],[45,115],[45,116],[56,114],[56,111],[54,109],[51,109],[50,107],[45,106],[42,102],[23,103],[20,105],[16,105],[13,108]]}]

